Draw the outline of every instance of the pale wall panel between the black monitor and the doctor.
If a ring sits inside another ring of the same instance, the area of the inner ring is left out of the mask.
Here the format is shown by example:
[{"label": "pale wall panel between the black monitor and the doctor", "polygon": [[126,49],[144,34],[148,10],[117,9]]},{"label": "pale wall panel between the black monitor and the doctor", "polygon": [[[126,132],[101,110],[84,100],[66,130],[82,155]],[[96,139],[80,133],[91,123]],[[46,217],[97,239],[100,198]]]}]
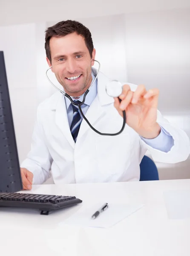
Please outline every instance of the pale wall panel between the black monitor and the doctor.
[{"label": "pale wall panel between the black monitor and the doctor", "polygon": [[30,149],[37,108],[35,24],[0,27],[19,160]]}]

